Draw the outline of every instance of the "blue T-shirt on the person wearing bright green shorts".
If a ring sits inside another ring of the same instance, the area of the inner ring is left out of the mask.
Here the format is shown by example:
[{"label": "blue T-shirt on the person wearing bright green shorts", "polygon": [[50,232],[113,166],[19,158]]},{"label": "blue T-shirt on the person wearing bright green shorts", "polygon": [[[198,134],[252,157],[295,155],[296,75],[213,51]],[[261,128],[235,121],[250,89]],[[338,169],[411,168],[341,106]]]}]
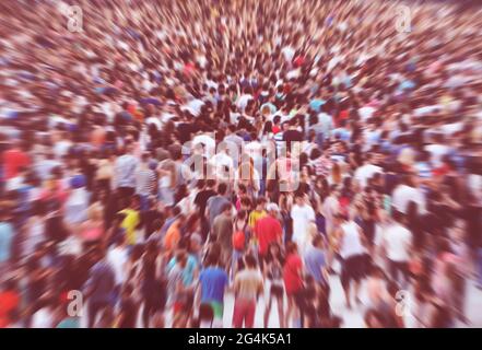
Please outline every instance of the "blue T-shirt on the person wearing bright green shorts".
[{"label": "blue T-shirt on the person wearing bright green shorts", "polygon": [[201,302],[219,302],[224,300],[224,289],[227,285],[227,273],[219,267],[208,267],[199,276],[201,283]]}]

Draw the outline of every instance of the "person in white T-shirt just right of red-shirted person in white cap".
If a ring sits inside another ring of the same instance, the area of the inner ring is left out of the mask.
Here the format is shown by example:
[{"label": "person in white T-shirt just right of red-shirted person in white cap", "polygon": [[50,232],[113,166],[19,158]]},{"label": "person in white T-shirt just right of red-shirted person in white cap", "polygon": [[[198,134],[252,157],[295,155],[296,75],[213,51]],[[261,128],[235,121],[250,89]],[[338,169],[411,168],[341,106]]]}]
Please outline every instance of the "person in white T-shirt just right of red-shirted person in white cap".
[{"label": "person in white T-shirt just right of red-shirted person in white cap", "polygon": [[308,238],[308,224],[315,221],[315,211],[311,206],[306,203],[304,194],[297,192],[295,195],[291,218],[293,219],[293,242],[303,250]]}]

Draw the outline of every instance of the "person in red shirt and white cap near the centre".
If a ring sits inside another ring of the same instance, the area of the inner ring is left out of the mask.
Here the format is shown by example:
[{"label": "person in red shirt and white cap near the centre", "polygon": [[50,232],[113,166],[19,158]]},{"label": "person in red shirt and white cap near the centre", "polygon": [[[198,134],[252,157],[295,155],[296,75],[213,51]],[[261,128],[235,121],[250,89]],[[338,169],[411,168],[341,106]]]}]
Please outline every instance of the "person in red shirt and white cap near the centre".
[{"label": "person in red shirt and white cap near the centre", "polygon": [[[268,248],[272,243],[282,242],[283,229],[278,219],[280,209],[275,203],[267,206],[268,215],[258,219],[255,224],[255,238],[258,243],[259,260],[264,261]],[[261,265],[262,266],[262,265]]]}]

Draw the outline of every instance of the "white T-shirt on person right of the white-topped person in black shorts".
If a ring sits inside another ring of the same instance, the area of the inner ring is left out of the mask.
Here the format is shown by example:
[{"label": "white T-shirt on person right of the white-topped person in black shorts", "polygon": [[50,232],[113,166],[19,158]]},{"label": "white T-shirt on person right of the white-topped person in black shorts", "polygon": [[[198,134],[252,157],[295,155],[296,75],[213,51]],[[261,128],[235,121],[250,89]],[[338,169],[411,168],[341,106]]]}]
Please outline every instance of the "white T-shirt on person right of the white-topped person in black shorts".
[{"label": "white T-shirt on person right of the white-topped person in black shorts", "polygon": [[395,223],[384,232],[384,246],[387,252],[387,258],[391,261],[409,261],[409,249],[412,244],[412,233],[402,225]]}]

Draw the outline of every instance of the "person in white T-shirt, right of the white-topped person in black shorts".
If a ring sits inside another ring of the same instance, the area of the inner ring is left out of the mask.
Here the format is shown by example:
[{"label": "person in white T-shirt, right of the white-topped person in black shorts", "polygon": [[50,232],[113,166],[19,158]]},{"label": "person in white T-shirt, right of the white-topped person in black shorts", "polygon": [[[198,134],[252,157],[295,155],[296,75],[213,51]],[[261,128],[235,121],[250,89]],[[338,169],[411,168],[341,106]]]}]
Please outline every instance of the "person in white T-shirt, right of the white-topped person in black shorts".
[{"label": "person in white T-shirt, right of the white-topped person in black shorts", "polygon": [[401,223],[402,214],[392,212],[393,223],[384,231],[381,248],[386,250],[391,278],[403,288],[409,280],[412,233]]}]

